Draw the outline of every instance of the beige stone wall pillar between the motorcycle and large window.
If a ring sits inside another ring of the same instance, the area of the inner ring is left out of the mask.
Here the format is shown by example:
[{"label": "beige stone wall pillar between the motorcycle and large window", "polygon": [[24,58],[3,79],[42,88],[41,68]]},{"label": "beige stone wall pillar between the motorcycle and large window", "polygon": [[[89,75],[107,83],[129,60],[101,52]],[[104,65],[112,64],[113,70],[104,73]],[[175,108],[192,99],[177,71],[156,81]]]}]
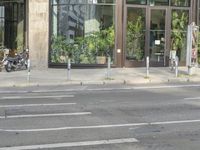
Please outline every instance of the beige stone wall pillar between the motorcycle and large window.
[{"label": "beige stone wall pillar between the motorcycle and large window", "polygon": [[45,69],[48,67],[49,0],[29,0],[28,15],[31,66]]}]

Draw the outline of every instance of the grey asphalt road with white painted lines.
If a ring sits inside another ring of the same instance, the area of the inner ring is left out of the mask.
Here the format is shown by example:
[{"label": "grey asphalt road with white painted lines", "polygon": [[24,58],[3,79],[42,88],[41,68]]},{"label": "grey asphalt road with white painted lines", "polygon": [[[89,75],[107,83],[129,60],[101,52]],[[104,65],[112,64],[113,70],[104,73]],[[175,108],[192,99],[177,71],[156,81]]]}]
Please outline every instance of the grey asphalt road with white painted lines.
[{"label": "grey asphalt road with white painted lines", "polygon": [[0,89],[0,150],[197,150],[200,85]]}]

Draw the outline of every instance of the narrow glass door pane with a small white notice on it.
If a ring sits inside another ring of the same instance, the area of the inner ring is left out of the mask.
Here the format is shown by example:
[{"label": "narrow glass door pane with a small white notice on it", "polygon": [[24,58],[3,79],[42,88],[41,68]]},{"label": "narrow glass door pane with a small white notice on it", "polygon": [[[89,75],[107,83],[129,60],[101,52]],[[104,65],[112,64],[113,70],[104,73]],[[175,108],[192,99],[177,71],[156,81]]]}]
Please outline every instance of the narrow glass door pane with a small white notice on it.
[{"label": "narrow glass door pane with a small white notice on it", "polygon": [[165,65],[166,10],[150,9],[149,57],[151,66]]}]

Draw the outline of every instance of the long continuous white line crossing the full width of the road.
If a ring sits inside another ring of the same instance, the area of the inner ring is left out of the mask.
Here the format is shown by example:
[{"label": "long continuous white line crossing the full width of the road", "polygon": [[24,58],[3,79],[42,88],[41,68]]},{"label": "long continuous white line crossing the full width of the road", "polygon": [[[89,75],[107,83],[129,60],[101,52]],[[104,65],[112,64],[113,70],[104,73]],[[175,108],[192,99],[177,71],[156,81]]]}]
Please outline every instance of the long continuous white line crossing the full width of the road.
[{"label": "long continuous white line crossing the full width of the road", "polygon": [[180,121],[163,121],[150,123],[130,123],[130,124],[111,124],[111,125],[96,125],[96,126],[68,126],[59,128],[43,128],[43,129],[0,129],[4,132],[42,132],[42,131],[59,131],[59,130],[74,130],[74,129],[98,129],[98,128],[117,128],[117,127],[134,127],[146,125],[168,125],[168,124],[184,124],[184,123],[200,123],[200,120],[180,120]]}]

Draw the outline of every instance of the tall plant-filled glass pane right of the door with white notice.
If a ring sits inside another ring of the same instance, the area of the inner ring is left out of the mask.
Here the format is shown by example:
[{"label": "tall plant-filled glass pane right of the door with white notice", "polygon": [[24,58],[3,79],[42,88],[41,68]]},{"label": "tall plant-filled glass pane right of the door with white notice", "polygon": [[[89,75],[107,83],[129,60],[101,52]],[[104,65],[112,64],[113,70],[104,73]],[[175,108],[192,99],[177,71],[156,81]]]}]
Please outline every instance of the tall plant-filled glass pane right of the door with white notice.
[{"label": "tall plant-filled glass pane right of the door with white notice", "polygon": [[171,21],[171,50],[176,51],[180,61],[186,59],[188,10],[172,10]]}]

